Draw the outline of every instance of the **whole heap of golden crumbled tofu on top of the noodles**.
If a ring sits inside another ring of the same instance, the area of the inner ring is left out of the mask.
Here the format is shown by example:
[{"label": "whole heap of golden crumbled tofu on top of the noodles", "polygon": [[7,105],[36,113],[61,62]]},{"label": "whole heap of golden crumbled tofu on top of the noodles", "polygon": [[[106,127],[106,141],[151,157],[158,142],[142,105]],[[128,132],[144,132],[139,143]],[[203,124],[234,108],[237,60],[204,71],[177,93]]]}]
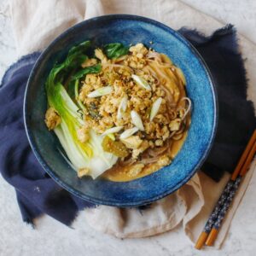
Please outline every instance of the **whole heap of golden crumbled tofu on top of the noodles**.
[{"label": "whole heap of golden crumbled tofu on top of the noodles", "polygon": [[[170,138],[172,131],[180,129],[183,111],[177,110],[176,106],[173,108],[167,106],[168,90],[160,86],[160,81],[154,73],[148,73],[148,49],[143,44],[133,45],[130,47],[130,54],[122,56],[119,61],[108,60],[102,49],[96,49],[95,54],[97,59],[89,59],[84,62],[84,65],[93,64],[98,59],[106,63],[102,63],[101,73],[87,74],[80,82],[82,86],[79,90],[79,100],[86,108],[83,116],[86,127],[100,134],[113,126],[123,126],[124,131],[131,129],[134,126],[131,120],[131,110],[134,110],[141,117],[145,131],[137,132],[133,137],[123,141],[126,148],[132,149],[132,157],[137,159],[138,155],[143,153],[145,150],[143,145],[147,144],[146,148],[162,146]],[[160,58],[160,54],[158,57]],[[143,78],[152,90],[145,90],[143,86],[137,84],[131,79],[131,74]],[[107,85],[113,87],[108,95],[88,97],[91,91]],[[169,89],[173,90],[172,86]],[[122,117],[118,118],[118,109],[124,97],[127,97],[126,108]],[[160,108],[154,119],[149,122],[152,105],[159,97],[162,98]],[[86,142],[88,139],[86,132],[78,132],[79,140]],[[119,140],[119,137],[117,139]]]}]

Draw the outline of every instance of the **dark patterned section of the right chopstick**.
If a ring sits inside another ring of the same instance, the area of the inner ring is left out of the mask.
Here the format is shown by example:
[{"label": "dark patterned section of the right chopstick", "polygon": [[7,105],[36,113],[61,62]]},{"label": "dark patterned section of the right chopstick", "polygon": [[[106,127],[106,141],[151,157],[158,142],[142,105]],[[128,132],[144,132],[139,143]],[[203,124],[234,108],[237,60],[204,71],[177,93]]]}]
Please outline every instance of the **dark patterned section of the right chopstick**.
[{"label": "dark patterned section of the right chopstick", "polygon": [[233,188],[230,190],[230,195],[227,197],[226,201],[224,202],[223,207],[218,213],[218,218],[216,219],[215,223],[213,224],[214,229],[218,230],[222,224],[222,221],[229,210],[229,207],[236,195],[236,191],[241,183],[241,176],[236,177],[236,181],[233,185]]}]

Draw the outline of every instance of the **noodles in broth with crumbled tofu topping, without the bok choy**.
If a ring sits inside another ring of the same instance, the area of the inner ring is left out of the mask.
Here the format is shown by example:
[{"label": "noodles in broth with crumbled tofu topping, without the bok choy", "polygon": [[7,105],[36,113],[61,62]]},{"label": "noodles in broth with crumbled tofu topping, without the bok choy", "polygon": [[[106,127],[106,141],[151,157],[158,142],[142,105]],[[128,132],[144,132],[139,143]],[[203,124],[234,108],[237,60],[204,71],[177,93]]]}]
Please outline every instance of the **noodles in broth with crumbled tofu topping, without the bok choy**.
[{"label": "noodles in broth with crumbled tofu topping, without the bok choy", "polygon": [[[84,91],[79,96],[85,106],[98,112],[99,118],[85,116],[84,121],[100,134],[113,127],[120,127],[124,133],[137,129],[126,138],[119,131],[114,134],[111,145],[119,145],[117,152],[122,149],[125,154],[103,177],[128,181],[169,165],[189,128],[191,101],[186,96],[182,71],[166,55],[148,50],[143,44],[131,46],[127,55],[117,59],[108,59],[99,49],[97,53],[98,59],[102,58],[101,73],[92,75],[91,83],[86,78],[81,82]],[[102,86],[98,82],[101,79],[104,86],[113,87],[110,93],[88,98],[88,93]],[[156,102],[160,102],[158,106]],[[132,116],[131,112],[136,114]],[[114,154],[113,148],[107,152]]]}]

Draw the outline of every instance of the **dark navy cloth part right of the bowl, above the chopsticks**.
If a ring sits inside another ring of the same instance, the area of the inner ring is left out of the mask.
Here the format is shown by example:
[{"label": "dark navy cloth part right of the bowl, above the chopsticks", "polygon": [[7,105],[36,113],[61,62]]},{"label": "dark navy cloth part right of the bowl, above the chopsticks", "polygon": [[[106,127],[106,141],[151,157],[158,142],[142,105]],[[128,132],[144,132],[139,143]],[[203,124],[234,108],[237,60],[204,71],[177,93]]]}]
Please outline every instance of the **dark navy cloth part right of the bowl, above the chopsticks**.
[{"label": "dark navy cloth part right of the bowl, above the chopsticks", "polygon": [[253,102],[247,101],[246,71],[236,30],[232,25],[227,25],[210,37],[186,28],[181,32],[207,62],[217,87],[218,130],[201,170],[218,181],[224,171],[234,171],[256,128]]}]

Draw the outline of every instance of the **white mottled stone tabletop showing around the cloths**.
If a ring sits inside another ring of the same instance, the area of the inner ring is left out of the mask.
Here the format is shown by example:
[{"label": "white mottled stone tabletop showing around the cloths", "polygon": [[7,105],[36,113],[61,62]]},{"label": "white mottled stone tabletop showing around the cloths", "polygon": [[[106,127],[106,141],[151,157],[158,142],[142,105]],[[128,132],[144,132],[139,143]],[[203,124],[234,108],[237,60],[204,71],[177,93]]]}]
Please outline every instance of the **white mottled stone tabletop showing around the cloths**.
[{"label": "white mottled stone tabletop showing around the cloths", "polygon": [[[0,0],[3,6],[4,0]],[[224,23],[236,25],[238,31],[256,43],[256,2],[221,0],[184,0],[190,6],[216,17]],[[15,42],[9,20],[0,15],[0,78],[9,64],[15,61]],[[208,251],[207,255],[254,255],[256,251],[256,174],[232,222],[230,233],[221,251]],[[0,255],[204,255],[198,252],[183,235],[180,227],[152,238],[118,240],[102,235],[88,227],[80,228],[84,212],[74,229],[43,217],[37,229],[23,224],[15,201],[15,192],[0,177]],[[209,250],[209,249],[208,249]]]}]

